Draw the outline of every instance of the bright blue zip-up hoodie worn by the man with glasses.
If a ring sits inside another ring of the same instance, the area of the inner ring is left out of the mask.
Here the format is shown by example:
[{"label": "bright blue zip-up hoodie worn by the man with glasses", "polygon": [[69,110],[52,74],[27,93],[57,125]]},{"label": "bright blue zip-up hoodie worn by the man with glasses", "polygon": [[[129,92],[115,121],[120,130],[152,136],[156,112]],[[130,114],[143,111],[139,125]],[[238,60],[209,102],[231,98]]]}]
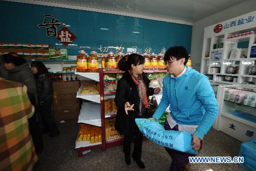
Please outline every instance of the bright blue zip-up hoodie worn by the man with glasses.
[{"label": "bright blue zip-up hoodie worn by the man with glasses", "polygon": [[207,76],[186,67],[180,77],[163,78],[163,97],[153,117],[158,120],[170,104],[174,121],[198,125],[194,134],[202,140],[218,115],[218,104]]}]

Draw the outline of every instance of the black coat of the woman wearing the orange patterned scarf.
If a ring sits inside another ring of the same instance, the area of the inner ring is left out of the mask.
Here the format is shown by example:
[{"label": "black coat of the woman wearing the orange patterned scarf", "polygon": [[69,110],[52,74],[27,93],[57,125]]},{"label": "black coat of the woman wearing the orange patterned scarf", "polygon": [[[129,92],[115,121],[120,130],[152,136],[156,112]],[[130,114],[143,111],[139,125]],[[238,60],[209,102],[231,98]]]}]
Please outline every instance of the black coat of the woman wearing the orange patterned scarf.
[{"label": "black coat of the woman wearing the orange patterned scarf", "polygon": [[[153,95],[154,89],[148,87],[150,82],[149,79],[144,73],[142,74],[142,76],[147,88],[147,96]],[[125,103],[127,101],[131,105],[134,104],[134,111],[129,110],[128,115],[126,115],[125,113]],[[130,73],[128,73],[128,71],[125,71],[122,78],[117,82],[115,103],[117,106],[117,115],[115,122],[116,130],[122,135],[133,136],[134,126],[136,126],[135,118],[148,118],[148,116],[147,110],[142,113],[141,117],[137,115],[140,111],[140,96],[137,90],[137,85],[132,80],[131,75]]]}]

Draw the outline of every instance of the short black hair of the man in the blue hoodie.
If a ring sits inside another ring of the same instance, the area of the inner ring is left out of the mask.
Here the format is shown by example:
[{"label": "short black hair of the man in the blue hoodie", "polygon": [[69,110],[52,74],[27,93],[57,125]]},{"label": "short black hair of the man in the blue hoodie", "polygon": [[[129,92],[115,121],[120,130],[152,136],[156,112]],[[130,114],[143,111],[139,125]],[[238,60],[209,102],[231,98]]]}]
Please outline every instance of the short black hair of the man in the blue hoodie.
[{"label": "short black hair of the man in the blue hoodie", "polygon": [[185,62],[184,65],[186,65],[186,63],[188,62],[189,59],[189,54],[188,51],[186,50],[186,48],[184,48],[183,46],[174,46],[169,48],[165,55],[164,55],[164,61],[169,61],[169,60],[180,60],[181,58],[185,58]]}]

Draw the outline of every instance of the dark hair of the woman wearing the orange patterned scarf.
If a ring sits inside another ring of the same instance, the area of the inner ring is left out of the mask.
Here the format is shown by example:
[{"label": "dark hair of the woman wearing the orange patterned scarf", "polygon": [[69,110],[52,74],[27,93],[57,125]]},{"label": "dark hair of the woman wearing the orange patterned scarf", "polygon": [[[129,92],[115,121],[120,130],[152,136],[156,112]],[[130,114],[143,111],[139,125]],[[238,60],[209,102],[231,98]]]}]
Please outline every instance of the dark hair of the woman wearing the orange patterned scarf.
[{"label": "dark hair of the woman wearing the orange patterned scarf", "polygon": [[130,70],[131,69],[131,64],[134,64],[135,66],[144,64],[144,58],[143,56],[137,54],[137,53],[132,53],[131,55],[126,55],[122,57],[122,59],[118,62],[117,66],[119,67],[120,70],[125,71],[125,70]]}]

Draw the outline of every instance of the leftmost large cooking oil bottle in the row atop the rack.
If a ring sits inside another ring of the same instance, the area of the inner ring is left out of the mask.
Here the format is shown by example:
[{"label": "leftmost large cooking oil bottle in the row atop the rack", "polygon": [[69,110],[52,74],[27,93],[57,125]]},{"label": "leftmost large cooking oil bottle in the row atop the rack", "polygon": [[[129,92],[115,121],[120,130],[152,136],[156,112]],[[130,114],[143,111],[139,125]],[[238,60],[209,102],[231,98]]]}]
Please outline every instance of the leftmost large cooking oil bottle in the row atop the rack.
[{"label": "leftmost large cooking oil bottle in the row atop the rack", "polygon": [[84,49],[81,49],[79,51],[79,55],[76,56],[76,71],[85,73],[88,69],[88,57],[86,55],[86,52]]}]

